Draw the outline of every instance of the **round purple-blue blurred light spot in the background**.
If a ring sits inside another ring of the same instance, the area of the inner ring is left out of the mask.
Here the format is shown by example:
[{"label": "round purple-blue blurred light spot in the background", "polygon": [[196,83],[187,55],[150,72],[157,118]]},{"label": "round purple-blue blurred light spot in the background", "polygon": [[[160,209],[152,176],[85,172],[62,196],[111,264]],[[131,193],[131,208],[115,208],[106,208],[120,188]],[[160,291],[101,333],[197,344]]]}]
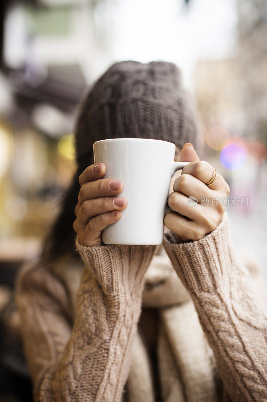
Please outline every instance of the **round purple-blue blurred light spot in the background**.
[{"label": "round purple-blue blurred light spot in the background", "polygon": [[229,141],[220,152],[220,163],[228,170],[241,167],[247,159],[247,148],[241,139]]}]

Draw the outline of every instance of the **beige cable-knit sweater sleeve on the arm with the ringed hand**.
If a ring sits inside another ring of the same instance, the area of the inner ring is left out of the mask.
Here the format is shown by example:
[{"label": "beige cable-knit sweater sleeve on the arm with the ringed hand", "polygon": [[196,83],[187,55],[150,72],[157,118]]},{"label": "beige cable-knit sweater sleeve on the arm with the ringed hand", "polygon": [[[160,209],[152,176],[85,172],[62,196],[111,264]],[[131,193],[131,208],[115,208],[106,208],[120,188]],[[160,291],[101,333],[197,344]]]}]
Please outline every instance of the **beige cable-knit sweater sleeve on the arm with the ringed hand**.
[{"label": "beige cable-knit sweater sleeve on the arm with the ringed hand", "polygon": [[235,255],[228,218],[199,241],[176,244],[168,232],[163,245],[190,292],[231,400],[267,400],[267,319]]}]

